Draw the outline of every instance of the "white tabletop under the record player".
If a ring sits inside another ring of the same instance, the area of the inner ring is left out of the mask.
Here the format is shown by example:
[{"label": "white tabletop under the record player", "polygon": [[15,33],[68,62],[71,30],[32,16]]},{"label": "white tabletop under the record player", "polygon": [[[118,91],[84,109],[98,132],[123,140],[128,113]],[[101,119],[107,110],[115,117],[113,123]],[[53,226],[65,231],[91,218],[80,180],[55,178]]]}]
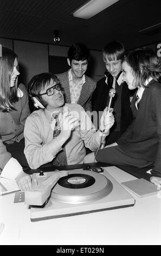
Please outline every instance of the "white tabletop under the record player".
[{"label": "white tabletop under the record player", "polygon": [[[104,167],[118,182],[136,179],[117,167]],[[0,197],[0,245],[161,245],[161,196],[139,198],[129,208],[38,222],[15,194]]]}]

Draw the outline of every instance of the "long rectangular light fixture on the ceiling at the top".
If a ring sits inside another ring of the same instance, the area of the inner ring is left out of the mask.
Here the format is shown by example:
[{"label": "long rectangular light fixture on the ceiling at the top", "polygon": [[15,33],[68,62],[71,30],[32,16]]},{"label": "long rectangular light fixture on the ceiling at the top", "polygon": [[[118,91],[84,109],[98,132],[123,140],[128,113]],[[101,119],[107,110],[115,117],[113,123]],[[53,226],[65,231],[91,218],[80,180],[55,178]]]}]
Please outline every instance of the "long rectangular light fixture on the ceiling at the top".
[{"label": "long rectangular light fixture on the ceiling at the top", "polygon": [[88,20],[118,1],[119,0],[91,0],[76,10],[73,16]]}]

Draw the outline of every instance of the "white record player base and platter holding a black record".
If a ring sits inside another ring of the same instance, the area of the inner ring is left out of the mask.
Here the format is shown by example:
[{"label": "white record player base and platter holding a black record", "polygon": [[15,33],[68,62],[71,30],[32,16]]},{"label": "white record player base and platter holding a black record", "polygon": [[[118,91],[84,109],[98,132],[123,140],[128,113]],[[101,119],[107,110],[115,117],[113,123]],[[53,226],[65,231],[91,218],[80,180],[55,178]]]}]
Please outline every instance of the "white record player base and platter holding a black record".
[{"label": "white record player base and platter holding a black record", "polygon": [[[106,170],[68,171],[53,187],[48,202],[42,206],[31,205],[31,221],[60,218],[91,212],[125,208],[135,204],[134,198]],[[53,172],[33,174],[38,184]]]}]

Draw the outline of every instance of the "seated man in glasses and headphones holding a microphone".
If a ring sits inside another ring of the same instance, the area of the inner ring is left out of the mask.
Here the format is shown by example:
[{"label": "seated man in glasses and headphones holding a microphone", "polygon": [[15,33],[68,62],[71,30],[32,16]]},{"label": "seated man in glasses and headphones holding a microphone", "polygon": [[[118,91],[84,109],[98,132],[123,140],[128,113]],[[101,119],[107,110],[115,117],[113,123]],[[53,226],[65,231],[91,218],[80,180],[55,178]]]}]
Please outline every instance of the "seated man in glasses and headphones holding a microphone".
[{"label": "seated man in glasses and headphones holding a microphone", "polygon": [[[85,145],[97,150],[114,123],[107,108],[95,130],[91,119],[78,104],[65,103],[63,89],[57,77],[50,73],[34,76],[28,93],[40,109],[29,115],[25,122],[24,154],[30,168],[42,164],[55,166],[83,163]],[[25,185],[28,188],[28,184]]]}]

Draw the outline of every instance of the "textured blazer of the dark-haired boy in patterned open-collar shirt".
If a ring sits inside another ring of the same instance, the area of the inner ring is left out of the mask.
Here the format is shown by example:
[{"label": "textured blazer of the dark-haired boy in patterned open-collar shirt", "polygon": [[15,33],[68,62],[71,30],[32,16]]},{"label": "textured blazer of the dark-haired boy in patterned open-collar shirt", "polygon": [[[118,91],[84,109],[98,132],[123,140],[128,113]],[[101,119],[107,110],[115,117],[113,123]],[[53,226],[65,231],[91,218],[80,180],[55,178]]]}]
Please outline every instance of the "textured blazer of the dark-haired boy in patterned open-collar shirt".
[{"label": "textured blazer of the dark-haired boy in patterned open-collar shirt", "polygon": [[[62,87],[64,89],[65,102],[71,103],[68,72],[69,70],[61,74],[56,74],[56,76],[57,78],[59,78],[60,83],[62,84]],[[85,111],[92,112],[91,98],[96,87],[96,82],[86,75],[85,80],[86,82],[82,86],[77,104],[81,105],[85,109]]]}]

